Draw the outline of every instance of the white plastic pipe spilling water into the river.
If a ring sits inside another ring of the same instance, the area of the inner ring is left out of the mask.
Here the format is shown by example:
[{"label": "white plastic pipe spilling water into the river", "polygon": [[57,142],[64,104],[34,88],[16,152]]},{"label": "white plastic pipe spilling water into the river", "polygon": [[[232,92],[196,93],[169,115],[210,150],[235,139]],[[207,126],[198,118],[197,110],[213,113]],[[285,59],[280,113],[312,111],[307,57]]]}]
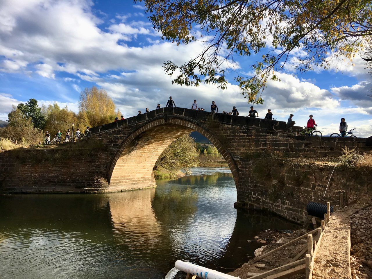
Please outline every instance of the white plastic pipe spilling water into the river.
[{"label": "white plastic pipe spilling water into the river", "polygon": [[197,264],[189,262],[177,261],[176,263],[174,263],[174,267],[176,267],[176,269],[182,270],[183,272],[196,275],[197,277],[202,279],[239,279],[238,277],[227,275],[225,273],[198,266]]}]

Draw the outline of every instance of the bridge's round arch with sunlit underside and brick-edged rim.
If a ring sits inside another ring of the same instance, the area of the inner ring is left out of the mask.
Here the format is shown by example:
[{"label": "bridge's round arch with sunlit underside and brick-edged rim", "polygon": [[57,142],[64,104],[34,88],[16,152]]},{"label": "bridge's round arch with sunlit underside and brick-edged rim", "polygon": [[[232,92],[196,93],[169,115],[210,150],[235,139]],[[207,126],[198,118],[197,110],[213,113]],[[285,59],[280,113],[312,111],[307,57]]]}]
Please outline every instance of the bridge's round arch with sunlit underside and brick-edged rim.
[{"label": "bridge's round arch with sunlit underside and brick-edged rim", "polygon": [[122,141],[108,169],[108,191],[155,186],[153,167],[158,157],[177,138],[193,131],[201,133],[215,145],[227,161],[235,185],[238,186],[239,173],[234,159],[213,132],[197,122],[161,118],[142,125]]}]

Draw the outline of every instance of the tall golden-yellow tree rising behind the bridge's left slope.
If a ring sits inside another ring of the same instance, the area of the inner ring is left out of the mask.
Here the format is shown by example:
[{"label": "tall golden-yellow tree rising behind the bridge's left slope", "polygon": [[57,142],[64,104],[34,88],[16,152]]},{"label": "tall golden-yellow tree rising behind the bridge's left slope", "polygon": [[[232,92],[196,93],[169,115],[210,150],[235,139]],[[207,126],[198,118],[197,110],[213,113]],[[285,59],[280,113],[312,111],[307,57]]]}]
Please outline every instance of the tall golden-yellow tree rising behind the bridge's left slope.
[{"label": "tall golden-yellow tree rising behind the bridge's left slope", "polygon": [[91,127],[113,122],[121,114],[106,90],[95,86],[80,93],[79,113],[86,114]]}]

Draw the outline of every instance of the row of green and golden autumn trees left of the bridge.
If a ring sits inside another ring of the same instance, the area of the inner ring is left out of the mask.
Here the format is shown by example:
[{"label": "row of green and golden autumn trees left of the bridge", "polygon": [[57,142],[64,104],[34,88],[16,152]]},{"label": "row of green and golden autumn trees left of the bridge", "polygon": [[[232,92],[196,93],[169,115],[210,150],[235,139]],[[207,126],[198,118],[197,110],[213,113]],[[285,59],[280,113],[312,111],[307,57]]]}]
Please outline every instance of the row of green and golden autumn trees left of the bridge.
[{"label": "row of green and golden autumn trees left of the bridge", "polygon": [[10,137],[22,144],[37,144],[46,131],[54,135],[60,129],[64,134],[73,123],[76,129],[84,131],[87,126],[113,122],[120,115],[106,90],[93,86],[80,93],[77,113],[67,106],[61,108],[57,103],[39,106],[35,99],[13,106],[8,114],[9,124],[0,128],[0,138]]}]

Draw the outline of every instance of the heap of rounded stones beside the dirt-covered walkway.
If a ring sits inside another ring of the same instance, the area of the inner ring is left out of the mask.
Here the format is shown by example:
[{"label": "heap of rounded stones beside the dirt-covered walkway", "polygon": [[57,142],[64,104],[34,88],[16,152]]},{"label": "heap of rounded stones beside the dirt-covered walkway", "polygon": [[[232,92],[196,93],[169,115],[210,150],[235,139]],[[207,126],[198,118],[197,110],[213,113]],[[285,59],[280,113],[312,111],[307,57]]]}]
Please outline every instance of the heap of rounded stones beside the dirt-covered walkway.
[{"label": "heap of rounded stones beside the dirt-covered walkway", "polygon": [[372,206],[352,215],[350,227],[352,278],[372,279]]}]

